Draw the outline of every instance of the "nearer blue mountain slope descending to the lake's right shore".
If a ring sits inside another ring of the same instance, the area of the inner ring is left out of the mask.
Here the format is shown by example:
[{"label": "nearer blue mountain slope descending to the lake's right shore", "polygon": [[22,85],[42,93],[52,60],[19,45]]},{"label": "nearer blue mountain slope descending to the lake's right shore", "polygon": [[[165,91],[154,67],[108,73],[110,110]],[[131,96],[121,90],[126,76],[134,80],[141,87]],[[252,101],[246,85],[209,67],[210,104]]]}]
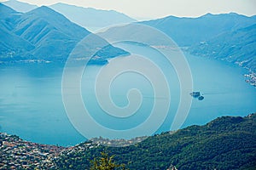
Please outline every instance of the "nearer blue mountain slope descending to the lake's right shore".
[{"label": "nearer blue mountain slope descending to the lake's right shore", "polygon": [[191,54],[223,59],[256,71],[256,24],[192,46]]}]

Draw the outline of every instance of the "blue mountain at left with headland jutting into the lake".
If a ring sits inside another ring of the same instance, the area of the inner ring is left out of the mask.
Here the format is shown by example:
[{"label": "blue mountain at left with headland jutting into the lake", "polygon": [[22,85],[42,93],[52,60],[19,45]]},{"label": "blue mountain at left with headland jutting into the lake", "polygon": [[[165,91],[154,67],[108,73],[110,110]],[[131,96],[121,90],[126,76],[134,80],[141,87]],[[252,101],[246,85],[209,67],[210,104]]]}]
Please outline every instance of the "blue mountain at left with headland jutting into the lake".
[{"label": "blue mountain at left with headland jutting into the lake", "polygon": [[[2,62],[27,59],[65,62],[76,44],[90,34],[90,31],[45,6],[19,13],[0,3],[0,10]],[[99,64],[107,63],[109,56],[127,54],[113,46],[102,51],[99,52],[101,56],[95,59]],[[86,54],[86,51],[80,53]]]}]

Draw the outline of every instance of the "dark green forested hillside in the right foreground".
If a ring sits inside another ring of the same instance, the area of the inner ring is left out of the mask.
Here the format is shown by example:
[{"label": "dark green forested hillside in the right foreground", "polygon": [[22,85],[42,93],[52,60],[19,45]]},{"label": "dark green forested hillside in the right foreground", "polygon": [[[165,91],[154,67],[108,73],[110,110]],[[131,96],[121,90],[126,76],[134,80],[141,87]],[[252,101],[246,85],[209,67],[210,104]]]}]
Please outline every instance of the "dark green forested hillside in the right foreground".
[{"label": "dark green forested hillside in the right foreground", "polygon": [[253,169],[256,167],[255,139],[255,114],[243,118],[225,116],[205,126],[162,133],[121,148],[102,145],[89,148],[88,143],[79,144],[63,151],[55,162],[61,169],[88,169],[88,160],[104,151],[130,169],[164,170],[171,165],[177,169]]}]

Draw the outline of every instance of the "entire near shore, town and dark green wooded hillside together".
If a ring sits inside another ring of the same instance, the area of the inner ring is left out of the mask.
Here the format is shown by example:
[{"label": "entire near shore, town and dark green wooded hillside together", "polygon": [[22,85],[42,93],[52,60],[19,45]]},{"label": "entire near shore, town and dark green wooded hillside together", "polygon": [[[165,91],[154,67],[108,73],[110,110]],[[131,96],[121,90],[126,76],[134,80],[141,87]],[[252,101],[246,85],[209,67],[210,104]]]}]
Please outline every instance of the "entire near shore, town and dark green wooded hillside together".
[{"label": "entire near shore, town and dark green wooded hillside together", "polygon": [[[144,137],[132,139],[138,141]],[[1,169],[90,169],[101,152],[133,169],[255,169],[256,114],[219,117],[204,126],[161,133],[125,147],[102,145],[124,140],[94,139],[71,147],[34,144],[0,133]],[[126,141],[127,142],[127,141]],[[130,143],[129,141],[126,143]]]}]

